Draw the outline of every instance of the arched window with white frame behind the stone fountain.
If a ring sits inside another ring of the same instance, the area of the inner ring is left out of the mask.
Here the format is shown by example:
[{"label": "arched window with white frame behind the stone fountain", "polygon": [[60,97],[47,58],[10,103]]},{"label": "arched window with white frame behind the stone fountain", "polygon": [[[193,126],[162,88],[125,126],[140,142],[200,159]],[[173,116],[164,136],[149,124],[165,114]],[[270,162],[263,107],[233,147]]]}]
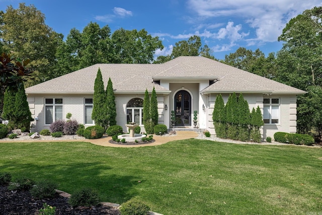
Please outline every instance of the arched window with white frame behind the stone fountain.
[{"label": "arched window with white frame behind the stone fountain", "polygon": [[135,124],[143,124],[143,99],[131,99],[126,105],[126,124],[135,122]]}]

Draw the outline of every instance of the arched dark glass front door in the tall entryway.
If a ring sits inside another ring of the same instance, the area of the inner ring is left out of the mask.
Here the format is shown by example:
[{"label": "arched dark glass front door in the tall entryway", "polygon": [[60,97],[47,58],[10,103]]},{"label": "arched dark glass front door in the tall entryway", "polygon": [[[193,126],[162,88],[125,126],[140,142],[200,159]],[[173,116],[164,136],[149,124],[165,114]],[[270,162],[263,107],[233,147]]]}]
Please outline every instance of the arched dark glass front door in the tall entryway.
[{"label": "arched dark glass front door in the tall entryway", "polygon": [[176,126],[191,126],[191,96],[179,91],[175,96]]}]

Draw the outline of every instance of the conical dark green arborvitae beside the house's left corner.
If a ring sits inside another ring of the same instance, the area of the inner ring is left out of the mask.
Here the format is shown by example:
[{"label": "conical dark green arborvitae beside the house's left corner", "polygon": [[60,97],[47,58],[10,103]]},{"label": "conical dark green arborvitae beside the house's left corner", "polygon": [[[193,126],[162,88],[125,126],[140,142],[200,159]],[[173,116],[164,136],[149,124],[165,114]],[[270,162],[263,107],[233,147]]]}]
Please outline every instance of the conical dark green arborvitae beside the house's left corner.
[{"label": "conical dark green arborvitae beside the house's left corner", "polygon": [[15,124],[18,128],[25,127],[29,131],[30,122],[33,121],[33,118],[31,117],[24,86],[21,86],[16,93],[15,100],[15,109],[13,109]]}]

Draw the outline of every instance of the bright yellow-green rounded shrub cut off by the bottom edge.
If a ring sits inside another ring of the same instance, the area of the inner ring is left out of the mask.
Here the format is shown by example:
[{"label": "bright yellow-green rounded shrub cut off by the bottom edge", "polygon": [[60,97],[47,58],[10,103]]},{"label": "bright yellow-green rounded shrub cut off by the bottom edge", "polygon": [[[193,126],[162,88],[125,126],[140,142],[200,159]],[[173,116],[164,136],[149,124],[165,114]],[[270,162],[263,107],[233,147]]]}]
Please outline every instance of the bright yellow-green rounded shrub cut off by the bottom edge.
[{"label": "bright yellow-green rounded shrub cut off by the bottom edge", "polygon": [[128,200],[120,208],[122,215],[146,215],[149,210],[149,206],[136,199]]}]

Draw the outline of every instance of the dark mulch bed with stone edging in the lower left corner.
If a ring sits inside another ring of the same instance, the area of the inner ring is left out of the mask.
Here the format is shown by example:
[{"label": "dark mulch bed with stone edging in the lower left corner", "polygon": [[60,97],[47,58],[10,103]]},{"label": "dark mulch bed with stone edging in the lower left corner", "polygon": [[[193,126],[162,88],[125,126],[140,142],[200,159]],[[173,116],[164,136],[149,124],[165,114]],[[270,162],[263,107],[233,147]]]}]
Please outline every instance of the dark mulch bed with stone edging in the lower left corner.
[{"label": "dark mulch bed with stone edging in the lower left corner", "polygon": [[117,208],[98,205],[96,207],[75,207],[67,203],[68,198],[56,194],[53,199],[33,198],[29,191],[13,193],[7,187],[0,186],[0,215],[35,215],[43,207],[43,203],[56,207],[56,215],[120,215]]}]

